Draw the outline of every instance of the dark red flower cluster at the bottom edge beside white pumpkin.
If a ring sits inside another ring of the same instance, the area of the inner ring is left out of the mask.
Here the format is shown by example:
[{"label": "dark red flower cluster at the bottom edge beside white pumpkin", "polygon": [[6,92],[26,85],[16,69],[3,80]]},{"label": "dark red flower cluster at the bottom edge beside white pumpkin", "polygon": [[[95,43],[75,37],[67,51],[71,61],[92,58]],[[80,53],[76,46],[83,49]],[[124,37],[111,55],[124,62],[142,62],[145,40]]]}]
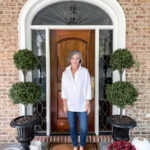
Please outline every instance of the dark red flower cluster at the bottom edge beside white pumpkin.
[{"label": "dark red flower cluster at the bottom edge beside white pumpkin", "polygon": [[136,150],[135,147],[129,141],[114,141],[111,143],[107,150]]}]

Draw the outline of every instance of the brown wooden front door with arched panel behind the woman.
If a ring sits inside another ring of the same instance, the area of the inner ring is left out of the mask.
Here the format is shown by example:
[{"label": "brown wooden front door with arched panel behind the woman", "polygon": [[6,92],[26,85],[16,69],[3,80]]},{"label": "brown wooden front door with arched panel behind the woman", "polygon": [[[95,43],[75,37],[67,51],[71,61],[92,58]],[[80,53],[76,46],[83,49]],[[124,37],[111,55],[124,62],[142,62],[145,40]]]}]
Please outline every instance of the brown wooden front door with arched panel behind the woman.
[{"label": "brown wooden front door with arched panel behind the woman", "polygon": [[[63,112],[61,99],[62,72],[68,66],[68,55],[73,50],[82,54],[83,67],[94,77],[95,55],[94,30],[52,30],[50,31],[50,76],[51,76],[51,131],[69,131],[67,115]],[[88,119],[88,131],[94,132],[94,98]]]}]

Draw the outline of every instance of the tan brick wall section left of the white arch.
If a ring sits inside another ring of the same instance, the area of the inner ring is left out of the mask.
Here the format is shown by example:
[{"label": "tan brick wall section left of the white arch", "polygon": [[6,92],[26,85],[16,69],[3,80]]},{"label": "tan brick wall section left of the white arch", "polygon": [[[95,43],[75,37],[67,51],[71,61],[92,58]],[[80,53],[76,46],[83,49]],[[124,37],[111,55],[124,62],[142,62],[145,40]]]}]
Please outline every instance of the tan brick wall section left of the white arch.
[{"label": "tan brick wall section left of the white arch", "polygon": [[18,51],[18,16],[25,0],[0,0],[0,143],[13,142],[16,130],[10,121],[19,115],[19,105],[8,98],[11,85],[19,80],[12,60]]}]

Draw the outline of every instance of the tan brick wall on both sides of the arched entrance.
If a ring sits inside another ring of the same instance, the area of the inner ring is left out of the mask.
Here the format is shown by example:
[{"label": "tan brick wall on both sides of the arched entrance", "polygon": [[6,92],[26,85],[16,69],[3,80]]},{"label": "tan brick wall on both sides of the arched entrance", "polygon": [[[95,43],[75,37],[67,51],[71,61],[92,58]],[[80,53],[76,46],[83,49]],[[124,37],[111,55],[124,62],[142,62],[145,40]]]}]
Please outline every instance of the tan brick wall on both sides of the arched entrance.
[{"label": "tan brick wall on both sides of the arched entrance", "polygon": [[[18,51],[18,16],[26,0],[0,0],[0,143],[14,142],[16,129],[10,121],[19,115],[19,106],[8,98],[11,85],[19,80],[12,60]],[[138,101],[126,113],[137,121],[131,137],[142,135],[150,140],[150,0],[118,0],[127,23],[127,48],[140,63],[140,70],[127,71],[128,81],[139,91]],[[38,137],[39,138],[39,137]],[[42,137],[43,138],[43,137]]]}]

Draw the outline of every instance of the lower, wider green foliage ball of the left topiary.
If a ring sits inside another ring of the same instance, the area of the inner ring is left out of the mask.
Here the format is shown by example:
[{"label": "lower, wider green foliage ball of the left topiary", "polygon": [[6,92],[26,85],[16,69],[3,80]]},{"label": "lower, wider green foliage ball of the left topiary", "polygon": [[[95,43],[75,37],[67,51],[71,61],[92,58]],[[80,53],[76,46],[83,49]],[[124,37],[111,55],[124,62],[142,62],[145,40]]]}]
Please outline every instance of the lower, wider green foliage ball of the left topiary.
[{"label": "lower, wider green foliage ball of the left topiary", "polygon": [[14,104],[34,104],[40,96],[41,89],[33,82],[17,82],[12,85],[9,91],[9,97],[13,100]]}]

